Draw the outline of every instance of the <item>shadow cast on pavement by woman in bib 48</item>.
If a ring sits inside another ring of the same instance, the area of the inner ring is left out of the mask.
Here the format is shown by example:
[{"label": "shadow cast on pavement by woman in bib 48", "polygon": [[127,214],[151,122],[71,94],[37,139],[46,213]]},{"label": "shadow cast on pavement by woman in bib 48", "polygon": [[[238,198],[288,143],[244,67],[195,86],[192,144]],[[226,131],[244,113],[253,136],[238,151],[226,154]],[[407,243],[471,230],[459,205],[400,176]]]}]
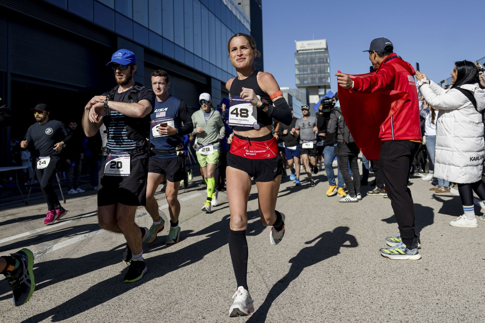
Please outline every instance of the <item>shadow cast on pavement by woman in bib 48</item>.
[{"label": "shadow cast on pavement by woman in bib 48", "polygon": [[307,241],[305,244],[309,245],[318,240],[315,245],[301,249],[295,257],[290,259],[291,267],[288,274],[273,285],[263,304],[246,322],[266,322],[268,310],[275,299],[288,288],[293,280],[300,276],[306,267],[337,256],[340,253],[340,247],[355,248],[358,246],[356,237],[348,234],[348,231],[348,227],[337,227],[334,231],[323,232],[318,237]]}]

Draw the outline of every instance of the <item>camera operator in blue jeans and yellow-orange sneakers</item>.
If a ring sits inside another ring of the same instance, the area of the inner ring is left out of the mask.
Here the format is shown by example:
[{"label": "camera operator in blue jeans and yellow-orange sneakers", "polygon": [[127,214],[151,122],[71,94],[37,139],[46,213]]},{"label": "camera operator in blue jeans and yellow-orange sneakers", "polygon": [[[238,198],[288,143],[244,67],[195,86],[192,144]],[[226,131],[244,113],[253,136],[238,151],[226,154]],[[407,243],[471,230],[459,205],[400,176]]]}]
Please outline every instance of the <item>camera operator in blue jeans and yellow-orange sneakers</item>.
[{"label": "camera operator in blue jeans and yellow-orange sneakers", "polygon": [[318,107],[318,114],[317,114],[317,127],[318,127],[318,137],[321,138],[321,142],[323,142],[323,146],[318,146],[317,141],[317,150],[319,154],[319,158],[321,158],[320,148],[322,148],[324,164],[325,164],[325,173],[327,174],[328,178],[328,190],[326,192],[327,196],[335,196],[339,194],[340,197],[345,197],[347,194],[343,190],[343,178],[342,174],[340,174],[340,169],[337,167],[337,177],[338,183],[335,183],[335,173],[333,170],[332,163],[335,159],[335,146],[337,145],[337,136],[335,133],[330,134],[327,133],[327,124],[328,120],[330,119],[330,114],[334,110],[334,105],[339,98],[339,93],[335,94],[332,98],[323,98],[320,101],[320,106]]}]

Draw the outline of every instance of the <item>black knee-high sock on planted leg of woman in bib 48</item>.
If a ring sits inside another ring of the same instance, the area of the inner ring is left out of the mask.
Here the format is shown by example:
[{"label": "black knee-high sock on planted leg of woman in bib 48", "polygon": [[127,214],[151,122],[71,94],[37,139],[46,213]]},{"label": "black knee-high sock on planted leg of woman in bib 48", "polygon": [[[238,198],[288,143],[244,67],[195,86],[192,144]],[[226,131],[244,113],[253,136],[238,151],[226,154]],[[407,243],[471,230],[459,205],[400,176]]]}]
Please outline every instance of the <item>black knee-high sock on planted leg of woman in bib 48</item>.
[{"label": "black knee-high sock on planted leg of woman in bib 48", "polygon": [[237,287],[242,286],[248,290],[246,277],[248,256],[246,230],[234,231],[229,229],[229,253],[231,254]]}]

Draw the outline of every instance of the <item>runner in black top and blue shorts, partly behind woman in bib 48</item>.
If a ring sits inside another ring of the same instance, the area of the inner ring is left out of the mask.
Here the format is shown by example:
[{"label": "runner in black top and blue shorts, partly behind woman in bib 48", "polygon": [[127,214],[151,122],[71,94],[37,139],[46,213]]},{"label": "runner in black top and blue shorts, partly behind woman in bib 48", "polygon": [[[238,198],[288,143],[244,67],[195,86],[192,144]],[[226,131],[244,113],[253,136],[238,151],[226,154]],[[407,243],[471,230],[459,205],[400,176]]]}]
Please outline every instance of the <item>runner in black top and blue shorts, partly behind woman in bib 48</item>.
[{"label": "runner in black top and blue shorts, partly behind woman in bib 48", "polygon": [[[293,117],[293,108],[291,108],[291,123],[286,125],[279,123],[278,135],[285,143],[285,154],[290,167],[290,180],[295,181],[295,185],[300,185],[300,142],[296,134],[295,123],[296,118]],[[293,167],[294,162],[294,167]]]}]

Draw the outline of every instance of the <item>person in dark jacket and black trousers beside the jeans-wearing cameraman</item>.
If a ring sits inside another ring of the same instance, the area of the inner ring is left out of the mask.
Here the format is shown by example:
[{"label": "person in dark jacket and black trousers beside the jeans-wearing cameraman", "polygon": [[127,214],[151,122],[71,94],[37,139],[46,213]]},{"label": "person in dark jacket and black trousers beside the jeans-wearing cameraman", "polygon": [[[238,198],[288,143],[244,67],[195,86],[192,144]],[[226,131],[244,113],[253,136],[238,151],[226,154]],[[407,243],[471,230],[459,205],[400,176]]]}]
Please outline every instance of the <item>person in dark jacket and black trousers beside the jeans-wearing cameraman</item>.
[{"label": "person in dark jacket and black trousers beside the jeans-wearing cameraman", "polygon": [[[360,173],[357,164],[359,149],[354,142],[354,138],[352,138],[352,135],[350,134],[347,123],[345,123],[345,120],[343,119],[339,101],[335,103],[335,108],[330,115],[330,120],[327,125],[327,133],[337,133],[337,147],[335,148],[335,154],[337,155],[339,169],[349,193],[348,196],[339,201],[344,203],[358,202],[358,200],[362,200],[360,195]],[[354,179],[352,179],[349,172],[349,162]]]}]

